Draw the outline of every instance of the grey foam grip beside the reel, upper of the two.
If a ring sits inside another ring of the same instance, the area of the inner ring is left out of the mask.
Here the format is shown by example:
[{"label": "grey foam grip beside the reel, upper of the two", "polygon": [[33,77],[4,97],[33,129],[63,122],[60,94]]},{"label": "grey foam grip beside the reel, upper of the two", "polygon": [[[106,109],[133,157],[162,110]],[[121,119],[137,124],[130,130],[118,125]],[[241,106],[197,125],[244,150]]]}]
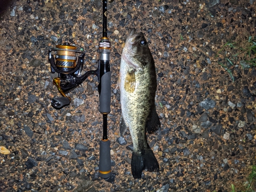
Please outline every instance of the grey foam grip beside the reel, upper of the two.
[{"label": "grey foam grip beside the reel, upper of the two", "polygon": [[111,71],[102,75],[100,80],[99,112],[102,114],[110,113],[111,104]]}]

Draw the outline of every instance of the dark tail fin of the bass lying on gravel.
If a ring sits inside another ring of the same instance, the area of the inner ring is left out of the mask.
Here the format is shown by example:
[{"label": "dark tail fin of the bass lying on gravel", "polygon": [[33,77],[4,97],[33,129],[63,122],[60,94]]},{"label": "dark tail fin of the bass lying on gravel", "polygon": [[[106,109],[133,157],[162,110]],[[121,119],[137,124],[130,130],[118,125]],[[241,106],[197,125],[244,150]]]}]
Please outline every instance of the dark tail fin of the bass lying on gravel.
[{"label": "dark tail fin of the bass lying on gravel", "polygon": [[134,179],[140,179],[143,170],[159,171],[159,164],[151,148],[147,148],[141,153],[133,152],[131,166]]}]

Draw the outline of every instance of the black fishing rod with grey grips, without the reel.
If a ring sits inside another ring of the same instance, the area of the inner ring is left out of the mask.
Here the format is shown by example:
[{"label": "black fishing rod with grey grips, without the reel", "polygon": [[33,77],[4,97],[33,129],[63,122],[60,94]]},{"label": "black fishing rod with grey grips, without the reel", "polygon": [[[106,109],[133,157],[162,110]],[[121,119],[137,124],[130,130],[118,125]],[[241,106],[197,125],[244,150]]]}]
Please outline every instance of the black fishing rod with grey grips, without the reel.
[{"label": "black fishing rod with grey grips, without the reel", "polygon": [[111,71],[110,71],[110,52],[111,42],[107,34],[106,22],[106,1],[102,1],[102,37],[99,42],[99,103],[100,113],[103,115],[103,137],[100,140],[99,152],[99,176],[101,178],[108,178],[111,176],[111,158],[110,158],[110,140],[108,139],[107,116],[110,113],[111,102]]}]

